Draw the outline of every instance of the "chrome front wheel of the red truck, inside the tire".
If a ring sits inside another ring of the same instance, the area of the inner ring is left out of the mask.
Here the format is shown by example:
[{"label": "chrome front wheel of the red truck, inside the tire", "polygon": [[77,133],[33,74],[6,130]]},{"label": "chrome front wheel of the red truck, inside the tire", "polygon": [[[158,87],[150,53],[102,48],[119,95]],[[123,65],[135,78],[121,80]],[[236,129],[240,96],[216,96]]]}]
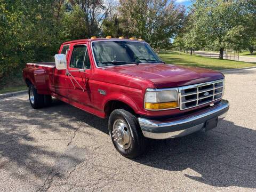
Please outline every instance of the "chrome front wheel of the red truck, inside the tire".
[{"label": "chrome front wheel of the red truck, inside the tire", "polygon": [[122,120],[117,119],[113,124],[112,137],[114,142],[123,149],[128,149],[131,145],[131,134],[128,125]]}]

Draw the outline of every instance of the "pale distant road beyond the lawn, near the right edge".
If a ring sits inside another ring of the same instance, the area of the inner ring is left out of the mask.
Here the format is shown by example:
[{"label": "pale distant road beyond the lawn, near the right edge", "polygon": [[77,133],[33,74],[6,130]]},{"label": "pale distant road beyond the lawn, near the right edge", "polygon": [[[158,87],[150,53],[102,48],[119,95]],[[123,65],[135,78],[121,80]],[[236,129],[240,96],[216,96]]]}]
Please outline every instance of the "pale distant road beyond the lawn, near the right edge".
[{"label": "pale distant road beyond the lawn, near the right edge", "polygon": [[[211,53],[211,52],[207,52],[207,51],[196,51],[197,55],[201,55],[203,57],[211,57],[211,58],[219,58],[219,53]],[[226,59],[226,55],[223,55],[223,59]],[[234,54],[230,54],[227,55],[227,59],[229,60],[238,60],[237,55],[234,56]],[[251,62],[251,63],[256,63],[256,57],[247,57],[247,56],[239,56],[239,61],[244,61],[244,62]]]}]

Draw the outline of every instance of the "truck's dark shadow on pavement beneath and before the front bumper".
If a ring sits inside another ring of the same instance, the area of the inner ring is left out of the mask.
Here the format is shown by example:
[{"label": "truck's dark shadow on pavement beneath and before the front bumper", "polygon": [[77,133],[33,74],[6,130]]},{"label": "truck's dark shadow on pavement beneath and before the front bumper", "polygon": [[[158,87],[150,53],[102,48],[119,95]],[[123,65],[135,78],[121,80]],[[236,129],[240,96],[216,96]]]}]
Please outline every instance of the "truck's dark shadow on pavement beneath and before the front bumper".
[{"label": "truck's dark shadow on pavement beneath and before the front bumper", "polygon": [[150,140],[147,153],[134,161],[167,171],[191,169],[195,173],[185,177],[211,186],[256,188],[255,138],[255,130],[223,120],[206,133]]}]

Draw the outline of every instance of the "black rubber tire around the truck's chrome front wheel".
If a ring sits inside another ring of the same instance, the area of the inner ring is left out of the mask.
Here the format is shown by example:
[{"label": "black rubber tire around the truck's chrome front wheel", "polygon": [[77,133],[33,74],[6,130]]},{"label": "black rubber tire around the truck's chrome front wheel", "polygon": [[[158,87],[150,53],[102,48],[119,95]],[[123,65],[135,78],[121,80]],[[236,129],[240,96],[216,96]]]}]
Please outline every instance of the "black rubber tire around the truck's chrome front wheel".
[{"label": "black rubber tire around the truck's chrome front wheel", "polygon": [[[129,148],[127,149],[119,146],[117,141],[115,141],[115,139],[113,138],[113,126],[114,123],[119,120],[126,123],[126,125],[128,126],[127,129],[129,130],[131,135]],[[115,148],[124,157],[135,158],[145,151],[147,146],[146,138],[142,134],[137,118],[129,111],[126,111],[124,109],[115,109],[114,111],[112,111],[109,116],[108,130]]]}]

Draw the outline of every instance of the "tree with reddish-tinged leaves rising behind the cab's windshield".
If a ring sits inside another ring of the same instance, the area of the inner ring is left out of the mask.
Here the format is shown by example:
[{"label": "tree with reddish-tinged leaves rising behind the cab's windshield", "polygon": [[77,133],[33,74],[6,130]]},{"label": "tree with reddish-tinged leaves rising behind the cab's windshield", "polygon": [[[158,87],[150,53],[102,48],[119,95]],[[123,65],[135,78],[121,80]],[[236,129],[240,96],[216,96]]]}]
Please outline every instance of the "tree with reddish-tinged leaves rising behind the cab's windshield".
[{"label": "tree with reddish-tinged leaves rising behind the cab's windshield", "polygon": [[130,34],[145,39],[153,47],[164,48],[178,33],[185,9],[167,0],[121,0],[120,17]]}]

